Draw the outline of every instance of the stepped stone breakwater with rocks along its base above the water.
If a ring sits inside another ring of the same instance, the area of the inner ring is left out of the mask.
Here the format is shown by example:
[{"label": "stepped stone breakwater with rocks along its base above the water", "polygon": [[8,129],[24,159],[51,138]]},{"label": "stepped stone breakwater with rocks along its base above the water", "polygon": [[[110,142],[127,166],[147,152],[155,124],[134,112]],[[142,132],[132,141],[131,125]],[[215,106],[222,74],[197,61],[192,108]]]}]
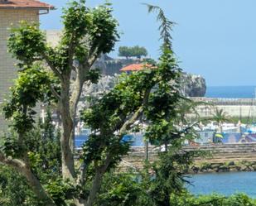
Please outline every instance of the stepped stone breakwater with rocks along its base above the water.
[{"label": "stepped stone breakwater with rocks along its base above the water", "polygon": [[[157,160],[160,148],[149,146],[148,160]],[[193,173],[224,171],[255,171],[256,143],[239,143],[227,145],[184,146],[184,151],[206,151],[207,156],[197,157],[189,171]],[[124,170],[141,170],[145,160],[145,148],[133,147],[128,156],[123,157],[121,167]]]}]

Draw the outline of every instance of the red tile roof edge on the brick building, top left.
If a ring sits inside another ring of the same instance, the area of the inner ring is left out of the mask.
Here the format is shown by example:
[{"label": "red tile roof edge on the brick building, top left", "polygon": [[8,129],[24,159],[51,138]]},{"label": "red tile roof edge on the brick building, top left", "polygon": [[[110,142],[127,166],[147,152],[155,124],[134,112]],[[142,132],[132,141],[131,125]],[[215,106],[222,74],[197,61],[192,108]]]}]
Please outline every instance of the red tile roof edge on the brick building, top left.
[{"label": "red tile roof edge on the brick building, top left", "polygon": [[0,8],[37,8],[37,9],[54,9],[48,3],[39,2],[37,0],[7,0],[0,1]]}]

